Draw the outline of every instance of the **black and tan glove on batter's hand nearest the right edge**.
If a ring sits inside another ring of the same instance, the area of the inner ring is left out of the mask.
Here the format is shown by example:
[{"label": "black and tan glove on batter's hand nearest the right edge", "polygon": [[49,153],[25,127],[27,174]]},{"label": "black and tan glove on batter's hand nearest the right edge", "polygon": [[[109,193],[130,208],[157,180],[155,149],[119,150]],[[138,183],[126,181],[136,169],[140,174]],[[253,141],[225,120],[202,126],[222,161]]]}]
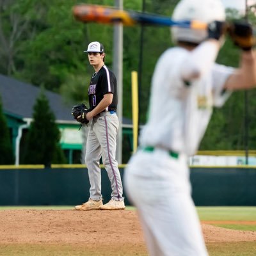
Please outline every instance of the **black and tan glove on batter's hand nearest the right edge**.
[{"label": "black and tan glove on batter's hand nearest the right edge", "polygon": [[250,51],[255,45],[252,25],[246,21],[232,22],[228,33],[234,44],[244,51]]}]

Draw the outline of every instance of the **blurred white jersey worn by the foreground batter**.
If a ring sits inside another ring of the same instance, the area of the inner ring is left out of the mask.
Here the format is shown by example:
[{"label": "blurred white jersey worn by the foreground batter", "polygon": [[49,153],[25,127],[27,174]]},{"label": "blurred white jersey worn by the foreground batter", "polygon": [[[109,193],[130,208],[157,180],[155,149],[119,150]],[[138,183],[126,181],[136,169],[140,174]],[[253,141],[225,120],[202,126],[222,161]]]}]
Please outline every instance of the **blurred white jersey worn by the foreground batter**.
[{"label": "blurred white jersey worn by the foreground batter", "polygon": [[[215,49],[207,42],[203,44],[193,55],[181,47],[168,49],[157,61],[141,146],[166,148],[188,156],[198,150],[212,107],[222,106],[231,93],[223,86],[234,72],[234,68],[214,63],[214,54],[207,59]],[[186,82],[186,70],[193,70],[197,64],[200,76]]]}]

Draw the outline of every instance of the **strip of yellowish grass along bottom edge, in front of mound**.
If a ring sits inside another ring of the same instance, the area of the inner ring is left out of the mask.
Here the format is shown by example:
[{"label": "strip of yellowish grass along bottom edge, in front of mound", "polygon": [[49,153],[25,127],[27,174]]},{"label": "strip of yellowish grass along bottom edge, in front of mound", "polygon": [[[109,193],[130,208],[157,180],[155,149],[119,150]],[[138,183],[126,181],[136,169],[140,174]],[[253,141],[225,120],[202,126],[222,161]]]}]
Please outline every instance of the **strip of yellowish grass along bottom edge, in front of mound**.
[{"label": "strip of yellowish grass along bottom edge, in front of mound", "polygon": [[[255,242],[208,243],[209,256],[255,256]],[[77,244],[0,244],[0,256],[147,256],[147,252],[92,250]]]}]

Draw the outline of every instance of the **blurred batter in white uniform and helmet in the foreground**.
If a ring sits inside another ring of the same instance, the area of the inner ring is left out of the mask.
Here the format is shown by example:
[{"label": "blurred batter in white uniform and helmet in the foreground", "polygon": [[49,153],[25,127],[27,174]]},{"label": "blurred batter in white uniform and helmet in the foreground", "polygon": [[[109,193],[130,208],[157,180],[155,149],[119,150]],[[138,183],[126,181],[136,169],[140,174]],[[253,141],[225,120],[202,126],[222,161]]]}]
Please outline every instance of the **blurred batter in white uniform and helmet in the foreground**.
[{"label": "blurred batter in white uniform and helmet in the foreground", "polygon": [[[227,28],[220,0],[182,0],[174,20],[200,20],[205,30],[172,28],[176,47],[159,58],[152,77],[148,122],[140,149],[125,170],[125,189],[137,207],[150,255],[207,255],[200,221],[191,198],[188,157],[198,150],[213,107],[232,90],[256,84],[252,27]],[[215,63],[230,36],[241,49],[237,69]]]}]

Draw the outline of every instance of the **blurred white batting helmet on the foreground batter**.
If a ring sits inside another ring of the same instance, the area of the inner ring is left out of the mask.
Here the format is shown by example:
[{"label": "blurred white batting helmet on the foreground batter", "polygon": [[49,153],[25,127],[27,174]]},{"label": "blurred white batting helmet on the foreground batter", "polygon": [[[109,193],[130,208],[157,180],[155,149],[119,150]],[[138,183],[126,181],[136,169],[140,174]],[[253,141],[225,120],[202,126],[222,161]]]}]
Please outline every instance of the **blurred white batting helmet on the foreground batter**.
[{"label": "blurred white batting helmet on the foreground batter", "polygon": [[[225,20],[225,8],[221,0],[181,0],[175,7],[173,20],[198,20],[210,23],[214,20]],[[171,28],[172,40],[199,44],[207,38],[204,29]]]}]

